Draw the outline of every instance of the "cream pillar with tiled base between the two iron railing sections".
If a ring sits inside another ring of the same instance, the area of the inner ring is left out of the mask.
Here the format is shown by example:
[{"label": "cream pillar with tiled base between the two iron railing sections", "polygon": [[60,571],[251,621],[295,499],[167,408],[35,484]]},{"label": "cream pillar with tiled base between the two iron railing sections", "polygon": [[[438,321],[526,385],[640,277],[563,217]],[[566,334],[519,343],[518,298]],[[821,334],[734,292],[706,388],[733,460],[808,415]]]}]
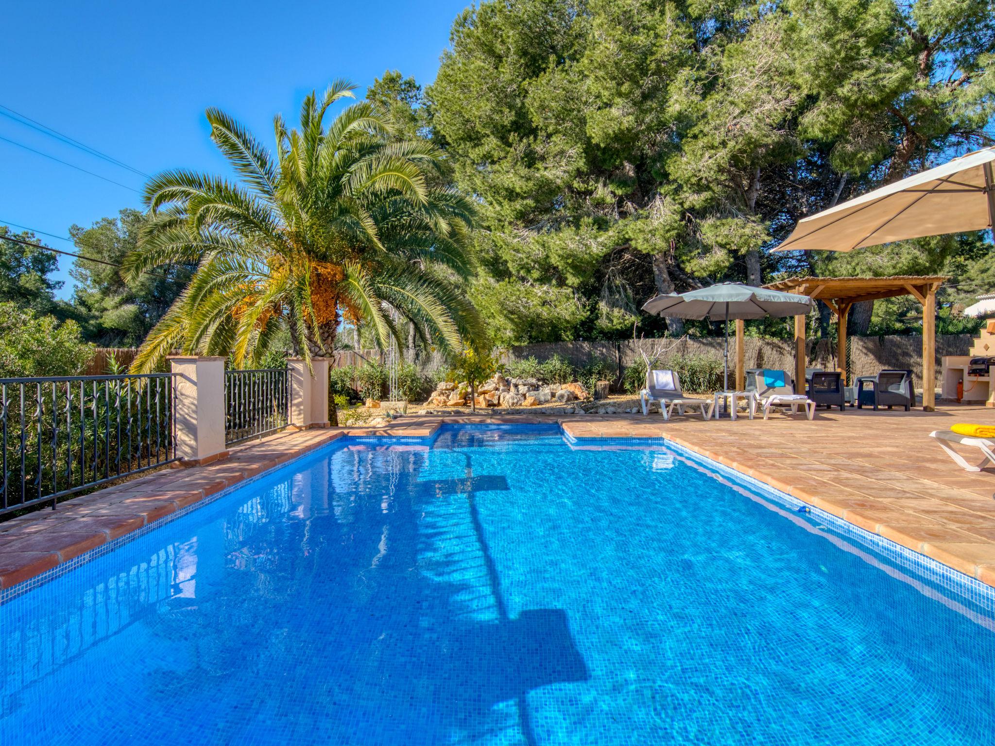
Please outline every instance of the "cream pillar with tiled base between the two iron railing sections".
[{"label": "cream pillar with tiled base between the two iron railing sections", "polygon": [[225,358],[170,355],[175,381],[176,456],[185,465],[226,459]]}]

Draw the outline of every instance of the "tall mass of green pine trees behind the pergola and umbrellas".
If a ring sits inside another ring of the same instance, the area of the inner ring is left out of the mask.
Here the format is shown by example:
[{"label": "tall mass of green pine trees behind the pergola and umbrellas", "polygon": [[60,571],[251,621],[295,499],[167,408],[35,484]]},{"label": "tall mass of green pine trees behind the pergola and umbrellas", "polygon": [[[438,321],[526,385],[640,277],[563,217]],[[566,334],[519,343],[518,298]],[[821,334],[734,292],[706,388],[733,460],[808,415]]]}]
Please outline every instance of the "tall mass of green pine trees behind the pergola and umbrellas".
[{"label": "tall mass of green pine trees behind the pergola and umbrellas", "polygon": [[961,239],[767,251],[990,142],[993,54],[990,0],[483,2],[419,110],[481,201],[472,296],[497,342],[618,339],[673,332],[642,302],[718,280],[970,266],[995,289],[990,246],[971,265]]}]

